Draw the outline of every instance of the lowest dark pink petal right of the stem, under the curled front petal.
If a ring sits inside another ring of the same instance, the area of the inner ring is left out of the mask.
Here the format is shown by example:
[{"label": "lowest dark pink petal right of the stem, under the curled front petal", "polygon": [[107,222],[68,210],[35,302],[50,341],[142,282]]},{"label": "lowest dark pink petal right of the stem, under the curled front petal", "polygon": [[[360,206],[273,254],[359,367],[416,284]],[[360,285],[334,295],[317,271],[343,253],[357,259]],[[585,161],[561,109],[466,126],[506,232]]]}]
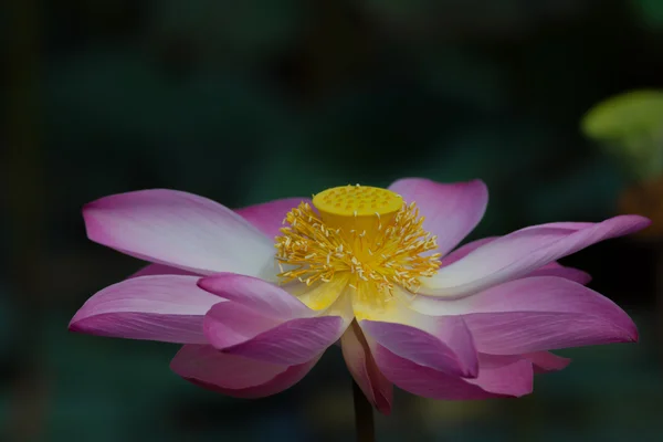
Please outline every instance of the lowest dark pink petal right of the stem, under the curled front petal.
[{"label": "lowest dark pink petal right of the stem, under the curled front petal", "polygon": [[417,365],[380,345],[371,344],[371,349],[387,379],[425,398],[470,400],[520,397],[532,392],[532,362],[525,359],[509,359],[499,365],[482,355],[478,377],[464,379]]}]

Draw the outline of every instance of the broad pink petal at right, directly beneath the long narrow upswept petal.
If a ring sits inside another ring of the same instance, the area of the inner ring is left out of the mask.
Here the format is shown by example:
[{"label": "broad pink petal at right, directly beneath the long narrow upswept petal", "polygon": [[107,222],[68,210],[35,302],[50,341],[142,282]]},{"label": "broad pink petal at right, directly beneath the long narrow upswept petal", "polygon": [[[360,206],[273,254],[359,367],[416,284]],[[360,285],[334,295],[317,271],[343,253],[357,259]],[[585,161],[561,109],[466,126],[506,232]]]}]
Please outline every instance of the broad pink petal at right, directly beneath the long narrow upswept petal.
[{"label": "broad pink petal at right, directly beneath the long narrow upswept petal", "polygon": [[511,281],[453,301],[418,296],[411,307],[462,315],[476,349],[493,355],[638,340],[635,324],[617,304],[554,276]]}]

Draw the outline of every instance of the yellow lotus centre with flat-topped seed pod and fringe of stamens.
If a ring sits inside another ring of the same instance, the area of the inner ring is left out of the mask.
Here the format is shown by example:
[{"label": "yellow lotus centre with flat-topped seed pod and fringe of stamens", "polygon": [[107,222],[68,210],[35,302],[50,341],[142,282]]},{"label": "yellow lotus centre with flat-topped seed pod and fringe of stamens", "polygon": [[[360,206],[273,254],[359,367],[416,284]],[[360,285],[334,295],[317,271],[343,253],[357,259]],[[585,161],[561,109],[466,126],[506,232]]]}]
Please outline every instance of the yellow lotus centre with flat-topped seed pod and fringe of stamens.
[{"label": "yellow lotus centre with flat-topped seed pod and fringe of stamens", "polygon": [[[308,203],[291,210],[276,236],[276,260],[283,283],[299,281],[307,286],[347,281],[354,303],[383,307],[402,287],[415,293],[421,276],[440,267],[436,236],[422,229],[423,217],[412,202],[386,189],[345,186],[327,189]],[[336,288],[338,295],[338,287]],[[324,287],[322,287],[324,288]],[[334,295],[314,291],[305,302],[324,308]],[[302,297],[301,297],[302,298]]]}]

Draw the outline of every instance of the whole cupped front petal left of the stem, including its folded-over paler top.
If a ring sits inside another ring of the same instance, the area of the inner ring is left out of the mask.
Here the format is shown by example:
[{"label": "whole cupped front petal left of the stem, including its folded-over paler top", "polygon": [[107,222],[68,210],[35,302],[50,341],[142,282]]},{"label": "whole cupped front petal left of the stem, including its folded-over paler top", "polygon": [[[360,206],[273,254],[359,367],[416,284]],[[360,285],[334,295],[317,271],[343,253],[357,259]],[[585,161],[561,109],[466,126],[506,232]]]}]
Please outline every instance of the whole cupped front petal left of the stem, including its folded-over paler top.
[{"label": "whole cupped front petal left of the stem, including its folded-over paler top", "polygon": [[314,316],[319,313],[259,278],[219,274],[199,285],[229,299],[211,308],[204,319],[209,343],[229,354],[303,364],[338,340],[349,324],[341,316]]}]

